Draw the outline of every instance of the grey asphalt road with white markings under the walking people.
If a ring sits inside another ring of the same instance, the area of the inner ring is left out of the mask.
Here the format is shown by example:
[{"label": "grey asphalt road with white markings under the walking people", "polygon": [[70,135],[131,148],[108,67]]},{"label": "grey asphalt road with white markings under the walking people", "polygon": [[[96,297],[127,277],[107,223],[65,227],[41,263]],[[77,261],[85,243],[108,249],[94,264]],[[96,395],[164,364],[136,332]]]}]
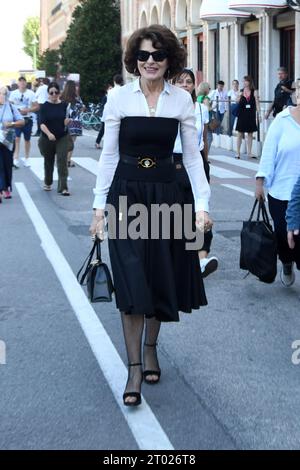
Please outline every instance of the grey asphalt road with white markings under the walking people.
[{"label": "grey asphalt road with white markings under the walking people", "polygon": [[209,307],[163,326],[161,383],[145,385],[132,412],[119,400],[119,314],[114,304],[90,306],[73,274],[90,248],[94,138],[78,141],[71,198],[42,191],[33,142],[33,167],[14,172],[14,197],[0,207],[0,448],[299,448],[291,345],[300,339],[300,276],[287,290],[239,270],[256,163],[213,151],[220,269],[205,282]]}]

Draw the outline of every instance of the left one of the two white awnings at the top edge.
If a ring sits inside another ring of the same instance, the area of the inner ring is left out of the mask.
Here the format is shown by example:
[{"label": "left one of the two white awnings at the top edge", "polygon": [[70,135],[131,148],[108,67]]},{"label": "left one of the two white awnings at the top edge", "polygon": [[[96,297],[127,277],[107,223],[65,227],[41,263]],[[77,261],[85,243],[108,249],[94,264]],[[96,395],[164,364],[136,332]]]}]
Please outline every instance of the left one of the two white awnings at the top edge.
[{"label": "left one of the two white awnings at the top edge", "polygon": [[248,17],[249,13],[229,9],[228,0],[203,0],[200,8],[200,18],[208,21],[234,21]]}]

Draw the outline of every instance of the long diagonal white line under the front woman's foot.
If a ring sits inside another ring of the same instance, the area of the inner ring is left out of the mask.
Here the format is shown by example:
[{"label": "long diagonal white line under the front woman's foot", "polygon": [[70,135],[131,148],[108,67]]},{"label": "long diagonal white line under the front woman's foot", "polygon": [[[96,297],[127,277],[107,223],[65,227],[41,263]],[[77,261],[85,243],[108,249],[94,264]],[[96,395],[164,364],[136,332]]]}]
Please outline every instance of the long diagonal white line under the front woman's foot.
[{"label": "long diagonal white line under the front woman's foot", "polygon": [[169,438],[145,399],[143,399],[142,405],[135,410],[128,409],[123,405],[122,395],[127,380],[127,369],[93,307],[79,286],[71,267],[30,197],[26,186],[23,183],[16,183],[15,185],[26,212],[41,240],[41,246],[65,291],[138,447],[142,450],[174,450]]}]

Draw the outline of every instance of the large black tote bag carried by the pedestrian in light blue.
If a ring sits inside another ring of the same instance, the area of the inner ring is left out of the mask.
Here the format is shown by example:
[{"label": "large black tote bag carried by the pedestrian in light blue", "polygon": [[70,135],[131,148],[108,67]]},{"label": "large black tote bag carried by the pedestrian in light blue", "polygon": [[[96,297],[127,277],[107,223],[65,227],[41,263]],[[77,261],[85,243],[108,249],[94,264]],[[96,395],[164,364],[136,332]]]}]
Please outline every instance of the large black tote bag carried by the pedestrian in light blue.
[{"label": "large black tote bag carried by the pedestrian in light blue", "polygon": [[[254,274],[260,281],[271,284],[277,275],[276,235],[270,224],[264,201],[259,202],[257,218],[252,220],[257,205],[256,200],[250,219],[243,222],[240,268]],[[261,215],[262,220],[260,220]]]}]

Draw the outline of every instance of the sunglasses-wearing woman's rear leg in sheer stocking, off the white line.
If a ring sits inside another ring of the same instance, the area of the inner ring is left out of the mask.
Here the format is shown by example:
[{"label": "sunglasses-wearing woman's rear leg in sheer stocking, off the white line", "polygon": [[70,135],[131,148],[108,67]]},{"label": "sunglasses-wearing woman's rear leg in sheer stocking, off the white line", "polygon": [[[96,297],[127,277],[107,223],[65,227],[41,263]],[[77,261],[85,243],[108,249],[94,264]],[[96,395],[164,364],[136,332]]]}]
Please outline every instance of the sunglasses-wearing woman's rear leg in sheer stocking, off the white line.
[{"label": "sunglasses-wearing woman's rear leg in sheer stocking, off the white line", "polygon": [[[147,382],[158,382],[160,378],[160,368],[157,359],[157,339],[161,322],[156,318],[146,319],[146,331],[144,341],[144,375]],[[158,373],[156,374],[155,371]],[[153,374],[151,374],[153,372]],[[146,373],[146,374],[145,374]]]}]

